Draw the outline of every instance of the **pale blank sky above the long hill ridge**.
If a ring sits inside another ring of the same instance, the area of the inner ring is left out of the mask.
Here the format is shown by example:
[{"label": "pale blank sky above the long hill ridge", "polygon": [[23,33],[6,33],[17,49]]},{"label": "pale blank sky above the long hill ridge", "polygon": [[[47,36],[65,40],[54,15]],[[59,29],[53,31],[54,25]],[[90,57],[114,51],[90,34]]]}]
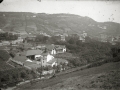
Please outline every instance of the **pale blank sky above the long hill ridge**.
[{"label": "pale blank sky above the long hill ridge", "polygon": [[120,23],[120,1],[4,0],[0,12],[67,13],[88,16],[98,22]]}]

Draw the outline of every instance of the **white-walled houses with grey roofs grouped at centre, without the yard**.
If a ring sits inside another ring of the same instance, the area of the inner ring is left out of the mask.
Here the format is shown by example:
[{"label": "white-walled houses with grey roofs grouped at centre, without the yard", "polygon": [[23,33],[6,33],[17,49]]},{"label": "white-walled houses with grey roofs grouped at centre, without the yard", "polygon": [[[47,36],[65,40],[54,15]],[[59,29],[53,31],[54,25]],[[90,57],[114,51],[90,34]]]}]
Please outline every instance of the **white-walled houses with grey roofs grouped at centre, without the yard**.
[{"label": "white-walled houses with grey roofs grouped at centre, without the yard", "polygon": [[[51,45],[53,47],[53,45]],[[57,59],[54,57],[55,54],[66,52],[65,48],[47,48],[47,52],[42,50],[28,50],[26,53],[26,57],[28,62],[36,62],[36,64],[40,64],[44,67],[46,66],[54,66],[60,63],[68,63],[67,60]]]}]

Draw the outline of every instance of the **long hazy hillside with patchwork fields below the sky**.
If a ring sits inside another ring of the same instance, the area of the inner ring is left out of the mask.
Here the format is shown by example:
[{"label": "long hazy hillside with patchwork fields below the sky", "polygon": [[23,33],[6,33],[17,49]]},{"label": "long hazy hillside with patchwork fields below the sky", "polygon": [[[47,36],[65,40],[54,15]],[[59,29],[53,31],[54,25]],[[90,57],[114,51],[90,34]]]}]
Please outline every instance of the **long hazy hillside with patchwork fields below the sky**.
[{"label": "long hazy hillside with patchwork fields below the sky", "polygon": [[96,22],[89,17],[73,14],[45,14],[28,12],[0,12],[0,29],[21,33],[49,35],[80,34],[86,31],[93,38],[100,34],[117,36],[120,34],[120,24],[114,22]]}]

